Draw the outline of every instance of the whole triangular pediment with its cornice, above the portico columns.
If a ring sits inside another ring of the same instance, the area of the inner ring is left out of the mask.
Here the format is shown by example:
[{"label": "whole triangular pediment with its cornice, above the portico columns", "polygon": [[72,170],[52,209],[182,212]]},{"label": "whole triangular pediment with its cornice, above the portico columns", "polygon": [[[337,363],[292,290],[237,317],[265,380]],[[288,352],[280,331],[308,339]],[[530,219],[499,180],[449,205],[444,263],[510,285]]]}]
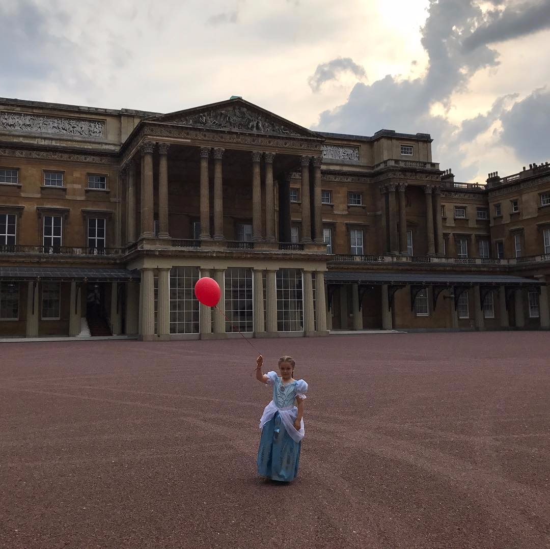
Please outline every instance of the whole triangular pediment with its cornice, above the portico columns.
[{"label": "whole triangular pediment with its cornice, above the portico columns", "polygon": [[162,114],[161,116],[148,118],[147,122],[320,139],[320,136],[313,131],[285,120],[241,98],[186,109],[185,111]]}]

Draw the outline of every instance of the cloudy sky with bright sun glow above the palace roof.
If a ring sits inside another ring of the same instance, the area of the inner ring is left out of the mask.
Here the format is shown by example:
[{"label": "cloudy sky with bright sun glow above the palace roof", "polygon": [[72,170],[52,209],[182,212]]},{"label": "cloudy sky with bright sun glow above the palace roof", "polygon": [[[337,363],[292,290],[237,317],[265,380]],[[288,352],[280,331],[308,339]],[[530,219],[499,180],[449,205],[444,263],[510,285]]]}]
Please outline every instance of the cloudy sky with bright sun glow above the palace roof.
[{"label": "cloudy sky with bright sun glow above the palace roof", "polygon": [[550,0],[0,0],[0,96],[430,133],[483,182],[550,161]]}]

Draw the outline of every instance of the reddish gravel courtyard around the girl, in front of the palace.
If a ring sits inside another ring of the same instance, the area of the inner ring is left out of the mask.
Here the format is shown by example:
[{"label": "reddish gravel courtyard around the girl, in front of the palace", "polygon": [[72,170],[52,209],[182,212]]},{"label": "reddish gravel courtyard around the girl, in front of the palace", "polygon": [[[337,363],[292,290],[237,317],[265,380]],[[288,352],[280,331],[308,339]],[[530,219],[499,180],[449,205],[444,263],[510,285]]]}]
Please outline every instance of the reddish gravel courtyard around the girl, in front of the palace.
[{"label": "reddish gravel courtyard around the girl, in front of the palace", "polygon": [[4,343],[0,547],[550,547],[549,341],[252,340],[309,383],[289,485],[240,339]]}]

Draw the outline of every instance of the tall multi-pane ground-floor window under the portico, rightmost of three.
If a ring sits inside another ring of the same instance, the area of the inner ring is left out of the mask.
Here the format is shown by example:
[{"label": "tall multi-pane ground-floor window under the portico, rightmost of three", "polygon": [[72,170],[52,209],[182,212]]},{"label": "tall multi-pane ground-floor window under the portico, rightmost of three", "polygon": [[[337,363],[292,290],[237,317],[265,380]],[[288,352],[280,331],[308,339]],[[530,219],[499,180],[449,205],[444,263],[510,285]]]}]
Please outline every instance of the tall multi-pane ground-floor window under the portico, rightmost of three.
[{"label": "tall multi-pane ground-floor window under the portico, rightmost of three", "polygon": [[299,269],[277,271],[277,331],[304,330],[302,272]]}]

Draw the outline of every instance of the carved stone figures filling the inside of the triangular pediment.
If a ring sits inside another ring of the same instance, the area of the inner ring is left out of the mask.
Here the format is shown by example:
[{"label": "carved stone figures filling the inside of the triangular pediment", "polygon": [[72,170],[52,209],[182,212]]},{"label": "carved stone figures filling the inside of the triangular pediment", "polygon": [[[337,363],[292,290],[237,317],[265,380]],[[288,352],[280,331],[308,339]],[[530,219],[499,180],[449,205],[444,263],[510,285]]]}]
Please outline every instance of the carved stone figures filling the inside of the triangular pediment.
[{"label": "carved stone figures filling the inside of the triangular pediment", "polygon": [[218,130],[250,131],[261,134],[292,135],[301,137],[293,128],[289,128],[265,114],[251,111],[243,105],[231,105],[226,108],[212,109],[181,117],[166,117],[163,122],[182,124],[184,126],[199,126]]}]

